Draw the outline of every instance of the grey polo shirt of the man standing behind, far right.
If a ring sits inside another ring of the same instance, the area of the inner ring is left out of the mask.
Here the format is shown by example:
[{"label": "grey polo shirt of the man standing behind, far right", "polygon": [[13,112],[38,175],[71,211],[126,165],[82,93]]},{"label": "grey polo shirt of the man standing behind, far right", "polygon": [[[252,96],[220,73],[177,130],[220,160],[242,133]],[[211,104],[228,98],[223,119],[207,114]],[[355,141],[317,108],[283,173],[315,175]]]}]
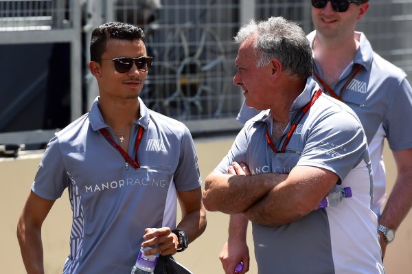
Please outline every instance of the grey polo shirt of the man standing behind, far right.
[{"label": "grey polo shirt of the man standing behind, far right", "polygon": [[[308,34],[311,46],[315,34],[315,31]],[[365,129],[374,174],[373,209],[379,215],[386,199],[385,165],[382,159],[384,139],[387,138],[389,147],[394,151],[412,148],[412,88],[406,73],[376,54],[366,36],[361,32],[358,34],[360,47],[356,56],[331,88],[355,111]],[[341,94],[343,85],[357,65],[362,66],[361,71]],[[316,58],[314,69],[323,78]],[[244,124],[256,114],[258,111],[243,104],[237,119]]]}]

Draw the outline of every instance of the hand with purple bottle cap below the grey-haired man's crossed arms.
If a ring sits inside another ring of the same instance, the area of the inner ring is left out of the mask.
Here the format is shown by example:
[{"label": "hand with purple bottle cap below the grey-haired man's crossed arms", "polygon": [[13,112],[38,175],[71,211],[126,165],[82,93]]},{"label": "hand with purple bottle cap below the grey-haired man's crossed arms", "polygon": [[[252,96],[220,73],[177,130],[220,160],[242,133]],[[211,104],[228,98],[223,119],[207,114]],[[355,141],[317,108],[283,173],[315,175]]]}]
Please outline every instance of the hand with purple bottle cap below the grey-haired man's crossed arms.
[{"label": "hand with purple bottle cap below the grey-haired man's crossed arms", "polygon": [[231,244],[226,242],[220,251],[219,259],[225,274],[235,273],[235,268],[240,262],[243,262],[243,269],[239,273],[249,271],[249,248],[246,242],[236,241]]}]

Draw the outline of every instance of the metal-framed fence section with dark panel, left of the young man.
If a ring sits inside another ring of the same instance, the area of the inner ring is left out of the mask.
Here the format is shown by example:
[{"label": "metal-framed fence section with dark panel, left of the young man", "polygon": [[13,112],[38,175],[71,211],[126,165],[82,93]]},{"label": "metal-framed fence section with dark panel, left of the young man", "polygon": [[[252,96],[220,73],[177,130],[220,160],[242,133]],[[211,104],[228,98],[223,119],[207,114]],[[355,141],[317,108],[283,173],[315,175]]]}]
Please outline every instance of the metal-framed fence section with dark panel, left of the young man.
[{"label": "metal-framed fence section with dark panel, left of the young man", "polygon": [[[67,71],[53,94],[68,89],[68,117],[82,114],[81,10],[78,0],[0,0],[0,144],[41,143],[48,80]],[[67,45],[65,62],[51,66],[54,48]],[[65,87],[62,87],[65,86]],[[60,109],[48,115],[59,115]]]}]

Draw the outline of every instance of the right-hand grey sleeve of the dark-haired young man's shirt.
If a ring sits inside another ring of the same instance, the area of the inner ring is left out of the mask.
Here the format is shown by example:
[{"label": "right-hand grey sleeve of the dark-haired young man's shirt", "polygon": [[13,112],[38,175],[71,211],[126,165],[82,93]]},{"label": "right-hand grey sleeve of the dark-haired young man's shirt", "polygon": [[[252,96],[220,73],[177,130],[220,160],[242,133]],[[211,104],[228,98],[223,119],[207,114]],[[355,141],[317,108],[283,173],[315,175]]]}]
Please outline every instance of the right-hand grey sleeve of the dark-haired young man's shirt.
[{"label": "right-hand grey sleeve of the dark-haired young man's shirt", "polygon": [[181,139],[179,165],[174,172],[174,182],[177,191],[194,190],[202,184],[196,148],[186,126]]}]

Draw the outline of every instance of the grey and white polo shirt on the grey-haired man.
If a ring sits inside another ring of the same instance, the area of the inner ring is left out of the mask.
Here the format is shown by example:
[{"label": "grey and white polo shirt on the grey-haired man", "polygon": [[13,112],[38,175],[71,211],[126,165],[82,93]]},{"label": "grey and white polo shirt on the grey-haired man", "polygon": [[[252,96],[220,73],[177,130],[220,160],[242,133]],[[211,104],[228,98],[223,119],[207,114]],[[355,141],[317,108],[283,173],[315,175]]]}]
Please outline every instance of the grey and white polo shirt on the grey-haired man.
[{"label": "grey and white polo shirt on the grey-haired man", "polygon": [[[317,89],[309,78],[290,109],[290,122]],[[358,117],[342,102],[322,94],[299,122],[285,153],[274,153],[267,144],[266,125],[272,120],[269,111],[250,119],[216,170],[226,173],[233,161],[247,163],[252,175],[288,174],[297,165],[308,165],[334,172],[353,196],[287,225],[253,223],[259,273],[383,273],[377,217],[370,209],[367,141]],[[278,149],[287,131],[275,144]]]}]

